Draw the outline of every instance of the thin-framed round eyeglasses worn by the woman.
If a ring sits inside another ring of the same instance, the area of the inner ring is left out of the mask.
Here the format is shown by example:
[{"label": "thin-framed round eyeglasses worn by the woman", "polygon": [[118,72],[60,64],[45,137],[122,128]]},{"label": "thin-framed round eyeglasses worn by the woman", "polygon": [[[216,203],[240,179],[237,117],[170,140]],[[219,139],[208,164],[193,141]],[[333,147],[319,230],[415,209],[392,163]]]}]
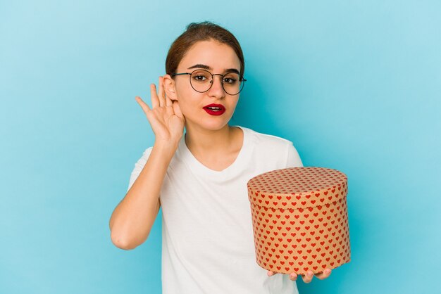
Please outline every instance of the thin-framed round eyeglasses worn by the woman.
[{"label": "thin-framed round eyeglasses worn by the woman", "polygon": [[215,75],[221,76],[223,91],[225,91],[226,94],[230,95],[239,94],[239,92],[244,89],[244,84],[247,81],[237,72],[228,72],[225,75],[213,75],[208,70],[194,70],[193,72],[174,73],[171,76],[174,77],[175,75],[190,75],[190,85],[192,86],[194,91],[197,91],[199,93],[209,91],[211,86],[213,86],[213,79]]}]

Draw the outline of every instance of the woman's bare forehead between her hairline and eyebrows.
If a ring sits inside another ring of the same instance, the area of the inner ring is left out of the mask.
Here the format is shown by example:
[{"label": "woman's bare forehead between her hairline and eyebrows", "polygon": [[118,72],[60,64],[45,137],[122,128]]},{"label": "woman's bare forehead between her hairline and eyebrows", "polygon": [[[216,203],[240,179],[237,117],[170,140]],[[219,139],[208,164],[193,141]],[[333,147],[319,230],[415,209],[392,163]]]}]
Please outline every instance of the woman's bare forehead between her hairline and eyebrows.
[{"label": "woman's bare forehead between her hairline and eyebrows", "polygon": [[240,71],[240,60],[235,51],[230,46],[213,40],[198,41],[191,46],[180,61],[178,68],[186,70],[197,64],[208,65],[215,72],[229,68]]}]

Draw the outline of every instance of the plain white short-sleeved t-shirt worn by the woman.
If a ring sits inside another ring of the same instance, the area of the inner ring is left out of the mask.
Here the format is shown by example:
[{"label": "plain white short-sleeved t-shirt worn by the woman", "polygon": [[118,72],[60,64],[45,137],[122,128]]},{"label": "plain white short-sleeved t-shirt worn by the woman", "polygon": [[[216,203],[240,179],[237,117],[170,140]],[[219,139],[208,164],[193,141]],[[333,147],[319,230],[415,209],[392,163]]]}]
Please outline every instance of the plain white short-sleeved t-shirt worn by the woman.
[{"label": "plain white short-sleeved t-shirt worn by the woman", "polygon": [[[164,294],[298,293],[288,274],[267,276],[256,263],[247,182],[263,172],[302,167],[302,160],[291,141],[240,128],[242,149],[225,170],[202,165],[185,135],[168,166],[159,196]],[[151,148],[135,163],[129,189]]]}]

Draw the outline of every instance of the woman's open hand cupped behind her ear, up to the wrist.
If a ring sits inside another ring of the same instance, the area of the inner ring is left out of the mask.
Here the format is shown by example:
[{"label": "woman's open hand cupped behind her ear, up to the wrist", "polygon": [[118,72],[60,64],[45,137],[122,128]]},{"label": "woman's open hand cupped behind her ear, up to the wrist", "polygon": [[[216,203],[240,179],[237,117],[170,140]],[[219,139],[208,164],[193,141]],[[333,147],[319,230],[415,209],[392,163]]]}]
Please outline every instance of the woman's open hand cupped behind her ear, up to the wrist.
[{"label": "woman's open hand cupped behind her ear, up to the wrist", "polygon": [[150,84],[151,106],[144,103],[140,97],[135,97],[139,106],[144,110],[155,141],[178,144],[184,134],[185,117],[179,108],[177,100],[171,101],[166,97],[163,87],[163,77],[159,77],[159,92],[156,94],[155,84]]}]

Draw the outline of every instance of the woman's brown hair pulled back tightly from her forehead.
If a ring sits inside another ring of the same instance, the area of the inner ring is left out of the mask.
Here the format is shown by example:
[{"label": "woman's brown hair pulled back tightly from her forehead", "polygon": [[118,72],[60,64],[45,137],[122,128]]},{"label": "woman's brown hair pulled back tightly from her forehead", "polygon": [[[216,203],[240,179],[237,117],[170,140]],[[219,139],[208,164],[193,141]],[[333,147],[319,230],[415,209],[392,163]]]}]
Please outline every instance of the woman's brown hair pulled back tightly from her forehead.
[{"label": "woman's brown hair pulled back tightly from her forehead", "polygon": [[185,53],[192,45],[198,41],[216,40],[222,44],[230,46],[236,53],[240,60],[240,75],[244,75],[245,62],[242,48],[240,48],[239,41],[233,36],[231,32],[225,30],[223,27],[204,21],[201,23],[190,23],[187,25],[187,30],[183,32],[168,49],[166,58],[166,73],[172,75],[176,72],[180,60],[185,56]]}]

